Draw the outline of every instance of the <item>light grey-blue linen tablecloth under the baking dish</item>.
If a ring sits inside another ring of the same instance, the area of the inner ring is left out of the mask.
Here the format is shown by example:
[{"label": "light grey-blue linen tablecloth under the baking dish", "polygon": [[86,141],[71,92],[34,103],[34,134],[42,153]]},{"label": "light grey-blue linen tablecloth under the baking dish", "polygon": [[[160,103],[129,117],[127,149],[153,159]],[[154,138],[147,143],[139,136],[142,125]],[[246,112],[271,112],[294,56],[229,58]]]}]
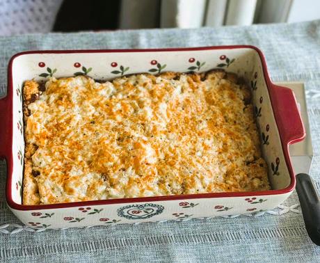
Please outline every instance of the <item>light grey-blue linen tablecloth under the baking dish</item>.
[{"label": "light grey-blue linen tablecloth under the baking dish", "polygon": [[[273,81],[305,81],[314,162],[320,186],[320,21],[218,29],[161,29],[101,33],[52,33],[0,38],[1,93],[8,60],[33,49],[125,49],[256,45]],[[1,127],[2,129],[2,127]],[[28,232],[6,207],[0,163],[0,261],[8,262],[319,262],[320,248],[307,237],[294,193],[283,207],[262,216],[193,219],[83,229]]]}]

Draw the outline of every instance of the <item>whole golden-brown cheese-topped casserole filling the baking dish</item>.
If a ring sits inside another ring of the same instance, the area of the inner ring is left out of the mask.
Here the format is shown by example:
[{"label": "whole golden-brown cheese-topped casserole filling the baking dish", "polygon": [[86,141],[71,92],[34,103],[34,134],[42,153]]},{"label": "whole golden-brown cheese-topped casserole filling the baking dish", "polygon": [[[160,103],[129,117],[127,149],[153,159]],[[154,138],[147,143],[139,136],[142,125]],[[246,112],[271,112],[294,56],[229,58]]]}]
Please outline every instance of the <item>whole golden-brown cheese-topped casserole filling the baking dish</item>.
[{"label": "whole golden-brown cheese-topped casserole filling the baking dish", "polygon": [[24,122],[25,205],[270,189],[236,74],[26,81]]}]

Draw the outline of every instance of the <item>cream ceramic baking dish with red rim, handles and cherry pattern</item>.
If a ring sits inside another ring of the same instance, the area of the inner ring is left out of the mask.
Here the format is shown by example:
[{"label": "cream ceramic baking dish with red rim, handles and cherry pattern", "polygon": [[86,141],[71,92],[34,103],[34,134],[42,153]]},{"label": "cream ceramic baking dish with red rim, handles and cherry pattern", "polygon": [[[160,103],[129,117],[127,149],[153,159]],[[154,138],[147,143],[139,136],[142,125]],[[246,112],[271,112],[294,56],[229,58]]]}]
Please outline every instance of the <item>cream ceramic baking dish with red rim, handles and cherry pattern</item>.
[{"label": "cream ceramic baking dish with red rim, handles and cherry pattern", "polygon": [[[138,72],[205,72],[214,68],[237,73],[251,87],[273,190],[22,205],[24,81],[74,74],[111,79]],[[262,52],[252,46],[19,53],[8,66],[8,94],[0,100],[0,114],[0,156],[8,166],[6,200],[13,213],[31,228],[184,220],[273,209],[288,198],[296,184],[288,145],[305,136],[294,94],[271,83]]]}]

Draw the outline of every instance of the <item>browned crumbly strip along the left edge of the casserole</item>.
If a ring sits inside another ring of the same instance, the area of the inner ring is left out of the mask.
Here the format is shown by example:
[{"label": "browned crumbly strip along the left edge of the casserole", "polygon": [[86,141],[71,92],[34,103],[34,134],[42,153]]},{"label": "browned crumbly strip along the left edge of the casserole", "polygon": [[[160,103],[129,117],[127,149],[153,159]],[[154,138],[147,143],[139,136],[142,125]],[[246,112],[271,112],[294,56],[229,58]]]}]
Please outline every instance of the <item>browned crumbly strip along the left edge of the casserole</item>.
[{"label": "browned crumbly strip along the left edge of the casserole", "polygon": [[[24,131],[26,131],[26,123],[28,121],[30,111],[28,105],[38,99],[41,90],[40,85],[36,81],[25,81],[23,86],[23,113],[24,113]],[[24,178],[22,186],[22,205],[39,205],[40,196],[38,192],[38,183],[32,174],[32,160],[31,157],[35,152],[36,145],[29,143],[24,133]]]}]

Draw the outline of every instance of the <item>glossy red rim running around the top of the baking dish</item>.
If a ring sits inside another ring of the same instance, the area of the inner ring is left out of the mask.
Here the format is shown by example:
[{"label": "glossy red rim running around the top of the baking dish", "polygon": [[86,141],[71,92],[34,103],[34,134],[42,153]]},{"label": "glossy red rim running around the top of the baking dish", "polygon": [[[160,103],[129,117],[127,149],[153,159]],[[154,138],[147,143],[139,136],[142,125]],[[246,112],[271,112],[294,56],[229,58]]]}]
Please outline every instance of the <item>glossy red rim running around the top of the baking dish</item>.
[{"label": "glossy red rim running around the top of the baking dish", "polygon": [[[290,193],[294,190],[296,186],[296,178],[291,166],[291,161],[289,157],[289,144],[302,141],[305,136],[305,131],[302,125],[302,120],[295,120],[301,122],[301,129],[295,138],[291,138],[288,141],[284,141],[282,134],[280,134],[280,139],[282,143],[282,150],[285,156],[285,161],[287,168],[289,170],[291,182],[289,186],[285,189],[278,190],[268,190],[268,191],[250,191],[250,192],[230,192],[230,193],[199,193],[199,194],[189,194],[189,195],[179,195],[179,196],[154,196],[154,197],[143,197],[143,198],[119,198],[111,200],[92,200],[84,202],[68,202],[68,203],[59,203],[52,205],[20,205],[13,201],[12,198],[12,184],[13,184],[13,154],[12,154],[12,145],[13,145],[13,61],[18,56],[26,54],[72,54],[72,53],[115,53],[115,52],[158,52],[158,51],[200,51],[200,50],[211,50],[211,49],[254,49],[259,54],[259,58],[262,62],[262,68],[264,72],[264,79],[269,92],[269,97],[271,98],[271,106],[273,108],[273,114],[275,115],[275,121],[277,122],[278,130],[280,127],[283,127],[282,123],[278,121],[279,113],[274,109],[275,102],[275,85],[271,82],[269,74],[266,68],[266,61],[257,47],[251,45],[232,45],[232,46],[216,46],[216,47],[190,47],[190,48],[169,48],[169,49],[102,49],[102,50],[45,50],[45,51],[25,51],[18,54],[15,54],[9,62],[8,65],[8,91],[6,96],[6,118],[4,122],[8,124],[6,130],[6,137],[10,140],[6,140],[3,145],[4,158],[7,161],[7,181],[6,181],[6,200],[9,207],[16,210],[41,210],[41,209],[58,209],[58,208],[67,208],[67,207],[79,207],[79,206],[93,206],[93,205],[114,205],[122,203],[132,203],[132,202],[159,202],[165,200],[186,200],[186,199],[202,199],[202,198],[235,198],[243,196],[269,196],[269,195],[282,195]],[[0,100],[1,102],[1,100]],[[3,102],[5,103],[5,102]],[[5,127],[6,128],[6,127]]]}]

